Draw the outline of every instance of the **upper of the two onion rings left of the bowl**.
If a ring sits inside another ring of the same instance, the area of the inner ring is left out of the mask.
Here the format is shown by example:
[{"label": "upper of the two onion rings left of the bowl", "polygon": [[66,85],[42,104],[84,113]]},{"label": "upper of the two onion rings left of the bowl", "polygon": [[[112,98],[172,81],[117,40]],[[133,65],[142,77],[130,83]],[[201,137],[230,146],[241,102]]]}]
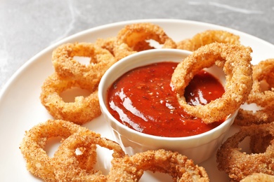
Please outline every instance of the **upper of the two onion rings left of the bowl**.
[{"label": "upper of the two onion rings left of the bowl", "polygon": [[[75,56],[91,57],[91,62],[81,64],[74,59]],[[81,79],[86,83],[98,84],[105,71],[115,62],[115,57],[108,50],[93,43],[65,43],[52,53],[52,63],[59,76]]]}]

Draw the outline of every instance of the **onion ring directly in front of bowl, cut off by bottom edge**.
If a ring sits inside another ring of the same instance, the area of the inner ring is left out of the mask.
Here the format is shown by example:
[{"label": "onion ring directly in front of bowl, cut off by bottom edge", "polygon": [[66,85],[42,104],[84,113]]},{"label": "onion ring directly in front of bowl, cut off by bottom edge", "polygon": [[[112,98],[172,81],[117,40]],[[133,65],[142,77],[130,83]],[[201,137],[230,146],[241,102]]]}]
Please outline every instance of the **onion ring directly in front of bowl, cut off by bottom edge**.
[{"label": "onion ring directly in front of bowl, cut off by bottom edge", "polygon": [[144,171],[167,173],[174,181],[209,181],[205,169],[193,160],[163,149],[113,159],[107,181],[139,181]]}]

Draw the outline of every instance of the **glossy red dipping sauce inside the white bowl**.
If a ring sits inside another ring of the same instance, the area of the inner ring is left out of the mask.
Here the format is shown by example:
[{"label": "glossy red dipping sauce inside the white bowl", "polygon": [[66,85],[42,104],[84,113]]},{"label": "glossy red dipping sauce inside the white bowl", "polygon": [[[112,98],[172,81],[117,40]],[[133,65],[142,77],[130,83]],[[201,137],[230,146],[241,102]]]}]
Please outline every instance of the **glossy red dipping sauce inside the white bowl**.
[{"label": "glossy red dipping sauce inside the white bowl", "polygon": [[[160,137],[193,136],[223,123],[221,120],[207,125],[183,111],[170,86],[177,64],[160,62],[141,66],[117,79],[107,92],[112,116],[133,130]],[[223,85],[214,76],[200,71],[185,88],[185,99],[192,105],[207,104],[223,92]]]}]

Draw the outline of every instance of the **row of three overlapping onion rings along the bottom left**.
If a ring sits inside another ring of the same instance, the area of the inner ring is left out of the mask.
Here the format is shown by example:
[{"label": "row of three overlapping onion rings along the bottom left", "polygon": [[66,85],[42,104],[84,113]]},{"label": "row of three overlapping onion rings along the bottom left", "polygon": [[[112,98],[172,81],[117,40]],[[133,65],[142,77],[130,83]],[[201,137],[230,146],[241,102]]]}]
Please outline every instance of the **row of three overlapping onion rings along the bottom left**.
[{"label": "row of three overlapping onion rings along the bottom left", "polygon": [[[50,158],[44,148],[53,137],[62,140]],[[114,151],[107,175],[93,169],[97,162],[96,145]],[[115,141],[65,120],[48,120],[32,127],[26,132],[20,150],[27,169],[44,181],[138,181],[145,170],[167,173],[174,181],[209,181],[205,169],[194,165],[185,155],[163,149],[125,155]]]}]

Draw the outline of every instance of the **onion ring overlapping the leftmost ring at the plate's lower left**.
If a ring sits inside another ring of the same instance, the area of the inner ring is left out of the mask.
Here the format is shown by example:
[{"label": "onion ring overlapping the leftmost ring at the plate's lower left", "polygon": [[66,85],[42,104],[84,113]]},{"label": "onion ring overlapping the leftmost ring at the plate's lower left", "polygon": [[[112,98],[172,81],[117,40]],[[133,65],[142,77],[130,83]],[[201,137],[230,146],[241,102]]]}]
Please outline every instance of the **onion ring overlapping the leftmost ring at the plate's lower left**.
[{"label": "onion ring overlapping the leftmost ring at the plate's lower left", "polygon": [[[124,151],[115,141],[105,139],[91,132],[77,132],[65,139],[54,154],[55,174],[58,181],[106,181],[107,176],[93,169],[91,172],[79,166],[77,162],[77,148],[99,145],[113,150],[113,158],[123,158]],[[89,160],[89,159],[86,159]],[[92,163],[96,161],[91,161]],[[87,162],[89,163],[89,162]]]}]

